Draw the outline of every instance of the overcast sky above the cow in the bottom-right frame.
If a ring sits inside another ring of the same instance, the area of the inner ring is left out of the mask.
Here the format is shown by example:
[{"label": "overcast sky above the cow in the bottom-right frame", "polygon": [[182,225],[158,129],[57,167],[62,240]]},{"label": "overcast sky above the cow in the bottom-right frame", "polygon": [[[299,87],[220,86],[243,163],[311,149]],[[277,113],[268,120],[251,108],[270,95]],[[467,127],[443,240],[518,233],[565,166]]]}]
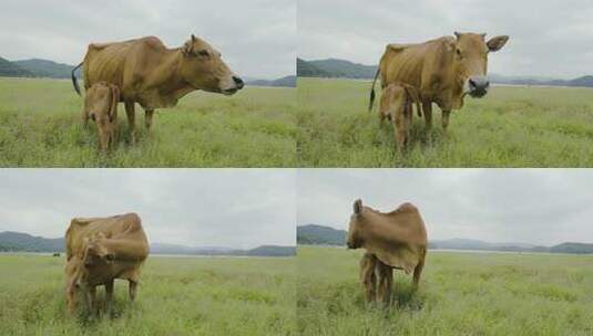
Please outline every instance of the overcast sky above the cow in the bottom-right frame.
[{"label": "overcast sky above the cow in the bottom-right frame", "polygon": [[357,198],[379,211],[410,201],[429,240],[593,243],[593,170],[300,169],[298,224],[348,230]]}]

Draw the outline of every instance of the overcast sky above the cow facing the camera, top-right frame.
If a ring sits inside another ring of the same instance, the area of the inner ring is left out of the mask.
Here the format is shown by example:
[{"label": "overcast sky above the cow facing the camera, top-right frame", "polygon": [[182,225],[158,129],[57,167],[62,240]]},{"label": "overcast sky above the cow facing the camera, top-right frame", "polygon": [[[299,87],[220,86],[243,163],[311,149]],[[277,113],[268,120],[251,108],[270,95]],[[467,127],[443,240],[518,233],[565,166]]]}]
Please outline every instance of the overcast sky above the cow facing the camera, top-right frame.
[{"label": "overcast sky above the cow facing the camera, top-right frame", "polygon": [[299,0],[300,57],[377,64],[391,42],[422,42],[453,31],[510,35],[489,59],[505,75],[593,74],[590,0]]}]

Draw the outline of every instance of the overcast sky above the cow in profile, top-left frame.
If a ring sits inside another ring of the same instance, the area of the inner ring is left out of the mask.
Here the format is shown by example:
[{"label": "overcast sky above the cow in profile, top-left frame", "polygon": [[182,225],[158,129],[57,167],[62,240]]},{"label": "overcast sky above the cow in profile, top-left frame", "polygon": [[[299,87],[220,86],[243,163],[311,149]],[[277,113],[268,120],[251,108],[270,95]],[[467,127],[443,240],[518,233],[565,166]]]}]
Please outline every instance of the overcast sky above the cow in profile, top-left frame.
[{"label": "overcast sky above the cow in profile, top-left frame", "polygon": [[78,64],[90,42],[155,35],[170,48],[192,33],[242,76],[295,73],[296,0],[6,0],[0,56]]}]

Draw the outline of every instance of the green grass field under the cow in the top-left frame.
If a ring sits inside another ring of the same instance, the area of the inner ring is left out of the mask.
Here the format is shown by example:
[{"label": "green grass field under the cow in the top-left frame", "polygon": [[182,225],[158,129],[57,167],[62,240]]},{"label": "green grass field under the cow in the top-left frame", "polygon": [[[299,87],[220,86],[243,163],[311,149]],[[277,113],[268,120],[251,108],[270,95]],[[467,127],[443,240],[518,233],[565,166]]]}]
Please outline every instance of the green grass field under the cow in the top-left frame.
[{"label": "green grass field under the cow in the top-left frame", "polygon": [[2,167],[296,167],[296,90],[246,87],[234,96],[195,92],[156,109],[129,145],[123,104],[119,146],[98,150],[96,127],[81,127],[83,99],[70,81],[0,78]]}]

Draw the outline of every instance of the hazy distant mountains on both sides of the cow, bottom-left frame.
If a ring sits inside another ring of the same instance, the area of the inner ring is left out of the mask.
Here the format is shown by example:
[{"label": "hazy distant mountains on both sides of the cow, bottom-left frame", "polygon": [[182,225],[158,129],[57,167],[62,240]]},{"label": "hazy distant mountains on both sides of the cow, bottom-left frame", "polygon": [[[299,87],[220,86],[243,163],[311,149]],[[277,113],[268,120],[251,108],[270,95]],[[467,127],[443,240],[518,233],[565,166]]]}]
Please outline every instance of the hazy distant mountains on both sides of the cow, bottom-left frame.
[{"label": "hazy distant mountains on both sides of the cow, bottom-left frame", "polygon": [[[63,252],[64,239],[48,239],[28,233],[0,232],[0,252]],[[295,246],[262,245],[251,250],[222,246],[184,246],[166,243],[152,243],[151,254],[183,255],[247,255],[247,256],[290,256]]]}]

